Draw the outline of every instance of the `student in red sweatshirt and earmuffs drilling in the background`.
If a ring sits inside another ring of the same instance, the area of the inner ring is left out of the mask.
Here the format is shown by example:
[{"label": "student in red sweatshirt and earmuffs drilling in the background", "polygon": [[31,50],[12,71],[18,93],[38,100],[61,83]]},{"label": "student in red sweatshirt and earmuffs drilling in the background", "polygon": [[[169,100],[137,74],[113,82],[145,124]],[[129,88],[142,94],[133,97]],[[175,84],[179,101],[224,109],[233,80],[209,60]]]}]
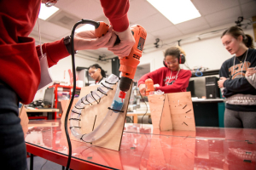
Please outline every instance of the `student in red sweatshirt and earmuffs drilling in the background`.
[{"label": "student in red sweatshirt and earmuffs drilling in the background", "polygon": [[154,90],[161,90],[166,94],[176,92],[186,92],[189,86],[189,78],[192,76],[191,71],[180,69],[179,65],[184,63],[185,53],[180,47],[172,47],[166,49],[164,58],[164,67],[156,71],[149,72],[140,78],[138,86],[141,94],[145,95],[145,81],[151,78],[155,87]]}]

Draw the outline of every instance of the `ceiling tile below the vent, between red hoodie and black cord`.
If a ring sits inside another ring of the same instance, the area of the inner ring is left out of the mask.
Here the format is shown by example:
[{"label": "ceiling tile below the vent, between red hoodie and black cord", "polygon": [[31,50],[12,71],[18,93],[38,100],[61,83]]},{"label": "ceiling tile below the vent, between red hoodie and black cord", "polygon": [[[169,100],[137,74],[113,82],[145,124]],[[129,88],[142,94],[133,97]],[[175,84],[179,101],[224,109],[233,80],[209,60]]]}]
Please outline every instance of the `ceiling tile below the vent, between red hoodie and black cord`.
[{"label": "ceiling tile below the vent, between red hoodie and black cord", "polygon": [[[50,23],[48,21],[45,20],[41,20],[39,19],[39,24],[40,24],[40,32],[43,35],[47,35],[49,37],[61,37],[67,33],[70,34],[70,30],[68,30],[67,28],[64,28],[62,26],[57,26],[53,23]],[[33,31],[37,31],[38,32],[38,24],[36,24],[33,28]],[[46,38],[46,37],[44,37]],[[48,38],[49,39],[49,38]],[[51,38],[52,39],[52,38]]]}]

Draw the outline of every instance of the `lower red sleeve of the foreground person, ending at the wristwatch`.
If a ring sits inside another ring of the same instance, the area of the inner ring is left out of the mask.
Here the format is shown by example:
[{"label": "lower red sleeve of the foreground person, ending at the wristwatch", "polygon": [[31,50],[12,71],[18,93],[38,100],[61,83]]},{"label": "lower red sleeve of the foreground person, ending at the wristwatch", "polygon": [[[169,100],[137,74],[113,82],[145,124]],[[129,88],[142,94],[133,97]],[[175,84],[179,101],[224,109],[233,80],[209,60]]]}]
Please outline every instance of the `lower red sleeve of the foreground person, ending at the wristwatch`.
[{"label": "lower red sleeve of the foreground person, ending at the wristwatch", "polygon": [[[63,39],[64,38],[55,42],[44,43],[42,45],[43,54],[46,53],[47,55],[49,67],[51,67],[52,65],[56,65],[60,59],[63,59],[70,55],[67,51]],[[41,56],[40,46],[38,45],[36,48],[38,56]]]}]

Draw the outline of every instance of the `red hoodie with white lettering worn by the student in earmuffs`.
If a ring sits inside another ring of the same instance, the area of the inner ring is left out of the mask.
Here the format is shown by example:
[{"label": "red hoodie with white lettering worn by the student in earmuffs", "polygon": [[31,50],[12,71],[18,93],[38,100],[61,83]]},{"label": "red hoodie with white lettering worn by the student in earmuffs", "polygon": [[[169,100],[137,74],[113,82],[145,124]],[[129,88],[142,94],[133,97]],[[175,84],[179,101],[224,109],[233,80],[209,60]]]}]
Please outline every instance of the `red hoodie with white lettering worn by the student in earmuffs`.
[{"label": "red hoodie with white lettering worn by the student in earmuffs", "polygon": [[[191,71],[181,69],[178,71],[171,71],[166,67],[161,67],[156,71],[149,72],[140,78],[138,86],[144,84],[148,78],[151,78],[154,84],[159,84],[155,90],[161,90],[168,93],[186,92],[189,86],[189,78],[192,76]],[[177,77],[177,79],[176,79]]]}]

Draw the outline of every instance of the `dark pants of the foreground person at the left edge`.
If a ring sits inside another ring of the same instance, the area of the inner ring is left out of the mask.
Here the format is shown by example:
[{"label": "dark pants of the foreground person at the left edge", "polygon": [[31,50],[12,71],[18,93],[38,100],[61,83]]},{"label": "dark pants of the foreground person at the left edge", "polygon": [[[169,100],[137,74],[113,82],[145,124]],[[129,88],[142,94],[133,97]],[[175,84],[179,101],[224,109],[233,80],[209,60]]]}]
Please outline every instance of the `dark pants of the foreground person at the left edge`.
[{"label": "dark pants of the foreground person at the left edge", "polygon": [[18,98],[0,82],[0,169],[26,169],[26,145],[20,126]]}]

